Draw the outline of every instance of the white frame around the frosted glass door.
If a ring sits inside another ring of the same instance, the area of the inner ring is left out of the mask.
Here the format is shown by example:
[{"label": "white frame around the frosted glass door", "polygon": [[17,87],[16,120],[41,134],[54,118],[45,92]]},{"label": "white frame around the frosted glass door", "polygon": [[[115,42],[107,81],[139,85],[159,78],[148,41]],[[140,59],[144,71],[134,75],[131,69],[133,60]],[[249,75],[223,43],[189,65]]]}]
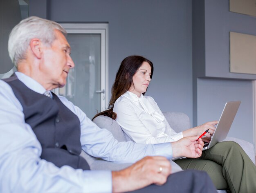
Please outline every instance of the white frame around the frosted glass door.
[{"label": "white frame around the frosted glass door", "polygon": [[[67,34],[101,34],[101,111],[108,108],[108,24],[60,23]],[[58,94],[58,89],[54,90]]]}]

